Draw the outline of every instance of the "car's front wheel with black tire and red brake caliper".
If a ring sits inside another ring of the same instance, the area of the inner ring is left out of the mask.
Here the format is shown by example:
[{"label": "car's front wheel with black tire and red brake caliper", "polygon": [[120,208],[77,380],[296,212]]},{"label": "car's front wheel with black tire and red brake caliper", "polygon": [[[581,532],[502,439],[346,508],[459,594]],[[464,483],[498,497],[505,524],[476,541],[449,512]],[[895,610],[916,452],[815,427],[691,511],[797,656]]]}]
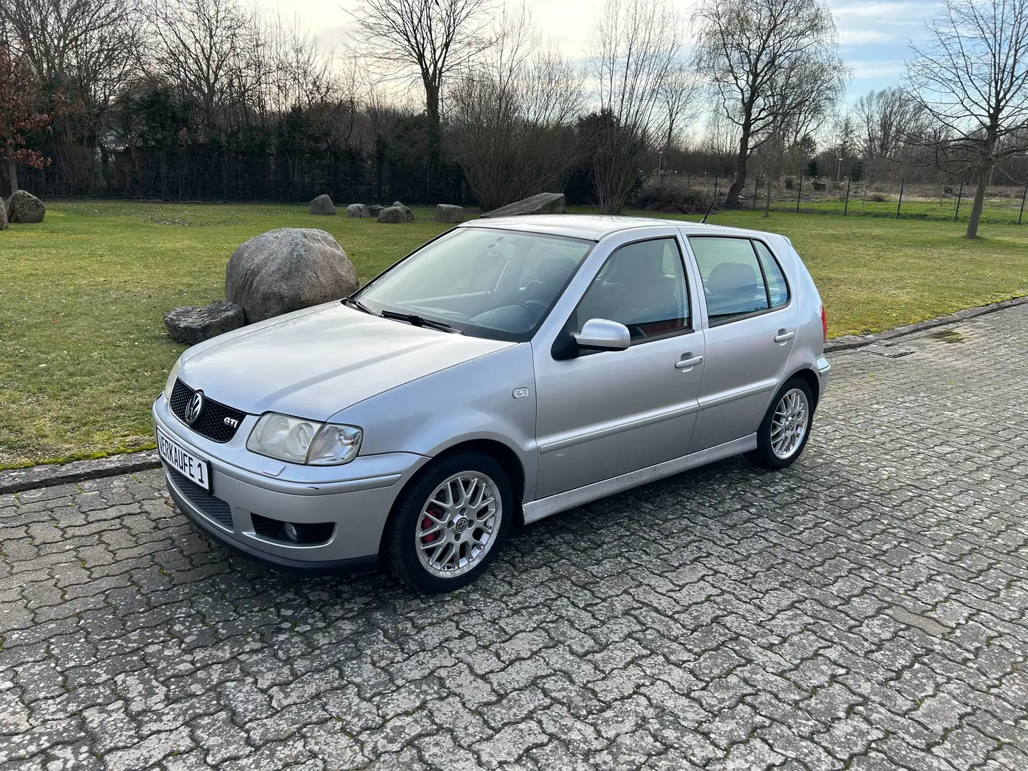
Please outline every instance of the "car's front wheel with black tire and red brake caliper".
[{"label": "car's front wheel with black tire and red brake caliper", "polygon": [[397,500],[386,539],[389,564],[421,591],[467,586],[497,558],[512,511],[510,480],[499,463],[472,451],[443,456]]}]

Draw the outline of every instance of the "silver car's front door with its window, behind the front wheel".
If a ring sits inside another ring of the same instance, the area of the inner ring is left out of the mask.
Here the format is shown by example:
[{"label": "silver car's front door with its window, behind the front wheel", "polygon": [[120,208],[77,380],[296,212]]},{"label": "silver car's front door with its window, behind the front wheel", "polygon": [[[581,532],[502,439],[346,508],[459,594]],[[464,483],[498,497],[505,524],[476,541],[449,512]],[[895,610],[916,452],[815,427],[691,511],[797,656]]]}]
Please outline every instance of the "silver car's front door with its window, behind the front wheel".
[{"label": "silver car's front door with its window, behind the front wheel", "polygon": [[630,346],[563,358],[534,343],[536,498],[686,454],[704,366],[691,306],[678,240],[632,242],[603,262],[562,332],[607,319],[628,327]]}]

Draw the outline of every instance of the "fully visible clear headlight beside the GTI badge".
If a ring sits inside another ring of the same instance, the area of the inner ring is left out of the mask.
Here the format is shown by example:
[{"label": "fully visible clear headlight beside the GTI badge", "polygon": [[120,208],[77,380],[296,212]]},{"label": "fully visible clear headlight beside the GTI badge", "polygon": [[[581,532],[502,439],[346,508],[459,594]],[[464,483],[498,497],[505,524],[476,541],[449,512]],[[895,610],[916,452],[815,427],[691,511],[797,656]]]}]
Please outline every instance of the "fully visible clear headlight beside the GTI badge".
[{"label": "fully visible clear headlight beside the GTI badge", "polygon": [[247,439],[247,449],[294,464],[336,466],[357,457],[362,438],[354,426],[265,412]]}]

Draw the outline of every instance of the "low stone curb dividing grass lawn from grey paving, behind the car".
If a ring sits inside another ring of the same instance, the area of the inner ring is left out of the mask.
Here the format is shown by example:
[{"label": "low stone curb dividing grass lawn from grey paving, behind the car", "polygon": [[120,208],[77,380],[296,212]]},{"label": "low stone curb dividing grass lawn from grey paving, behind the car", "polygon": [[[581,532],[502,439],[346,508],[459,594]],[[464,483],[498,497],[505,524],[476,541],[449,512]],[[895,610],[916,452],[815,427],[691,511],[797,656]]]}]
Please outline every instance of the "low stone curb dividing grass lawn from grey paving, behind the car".
[{"label": "low stone curb dividing grass lawn from grey paving, behind the car", "polygon": [[[988,305],[969,307],[965,310],[957,310],[949,316],[940,316],[937,319],[908,324],[904,327],[888,329],[884,332],[877,332],[873,335],[843,335],[833,337],[824,343],[824,353],[832,354],[839,351],[858,348],[872,342],[880,340],[890,340],[893,337],[921,332],[932,327],[942,327],[946,324],[956,324],[957,322],[974,319],[976,316],[993,314],[996,310],[1015,307],[1016,305],[1028,304],[1028,296],[1015,297],[1011,300],[993,302]],[[58,484],[69,484],[72,482],[82,482],[86,479],[101,479],[103,477],[113,477],[119,474],[132,474],[137,471],[156,469],[160,466],[160,458],[156,450],[143,450],[142,452],[125,452],[110,457],[101,457],[96,461],[73,461],[68,464],[44,464],[33,466],[28,469],[11,469],[0,471],[0,494],[22,492],[37,487],[52,487]]]}]

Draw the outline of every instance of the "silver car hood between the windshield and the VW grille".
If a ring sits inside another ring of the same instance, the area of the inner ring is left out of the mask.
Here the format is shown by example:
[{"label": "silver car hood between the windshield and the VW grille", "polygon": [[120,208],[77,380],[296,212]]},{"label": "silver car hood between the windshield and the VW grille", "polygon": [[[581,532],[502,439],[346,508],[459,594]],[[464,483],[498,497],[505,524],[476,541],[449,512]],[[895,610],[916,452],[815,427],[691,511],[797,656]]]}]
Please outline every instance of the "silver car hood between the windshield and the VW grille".
[{"label": "silver car hood between the windshield and the VW grille", "polygon": [[244,412],[325,420],[375,394],[513,344],[412,327],[332,302],[190,348],[179,378]]}]

